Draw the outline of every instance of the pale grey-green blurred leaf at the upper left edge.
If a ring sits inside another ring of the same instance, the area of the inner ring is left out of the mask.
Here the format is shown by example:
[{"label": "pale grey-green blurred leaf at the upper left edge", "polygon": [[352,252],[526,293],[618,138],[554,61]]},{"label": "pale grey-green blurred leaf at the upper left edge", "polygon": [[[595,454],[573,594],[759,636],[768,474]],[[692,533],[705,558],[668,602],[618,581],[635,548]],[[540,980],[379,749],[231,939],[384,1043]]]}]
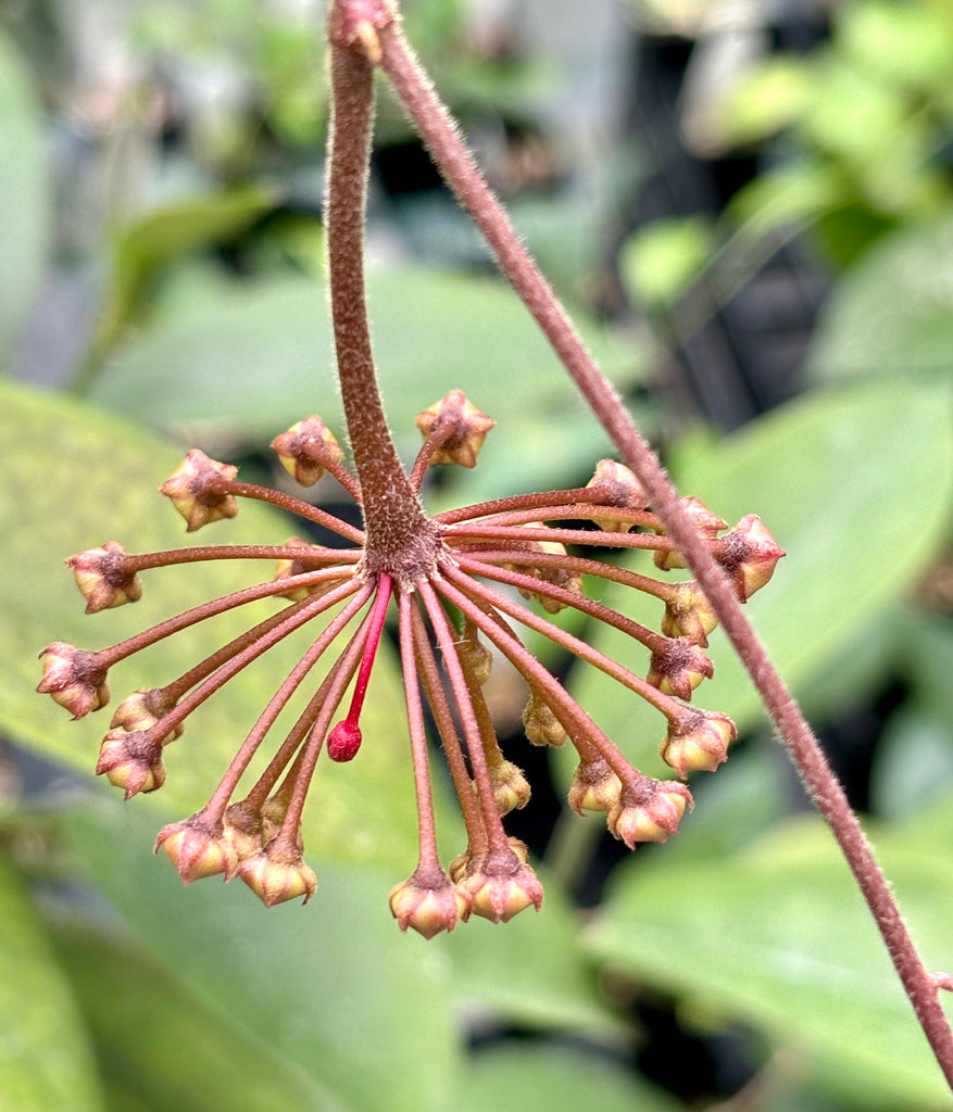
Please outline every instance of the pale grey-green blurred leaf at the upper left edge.
[{"label": "pale grey-green blurred leaf at the upper left edge", "polygon": [[0,355],[8,355],[37,294],[52,212],[40,103],[17,48],[2,30],[0,118]]}]

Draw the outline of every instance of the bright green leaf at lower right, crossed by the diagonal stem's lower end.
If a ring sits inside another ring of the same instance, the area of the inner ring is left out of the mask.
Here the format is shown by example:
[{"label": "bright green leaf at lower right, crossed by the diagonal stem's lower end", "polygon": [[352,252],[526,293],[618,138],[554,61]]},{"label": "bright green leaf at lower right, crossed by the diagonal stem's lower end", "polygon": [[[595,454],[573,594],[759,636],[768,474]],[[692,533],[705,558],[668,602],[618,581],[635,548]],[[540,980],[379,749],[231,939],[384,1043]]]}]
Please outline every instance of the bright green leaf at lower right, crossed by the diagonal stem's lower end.
[{"label": "bright green leaf at lower right, crossed by the diagonal stem's lower end", "polygon": [[[937,868],[935,844],[897,834],[880,845],[927,967],[949,957],[953,917],[953,881]],[[793,822],[721,861],[623,870],[588,943],[601,960],[678,993],[688,1006],[754,1023],[809,1051],[827,1084],[855,1106],[886,1112],[949,1102],[819,820]]]}]

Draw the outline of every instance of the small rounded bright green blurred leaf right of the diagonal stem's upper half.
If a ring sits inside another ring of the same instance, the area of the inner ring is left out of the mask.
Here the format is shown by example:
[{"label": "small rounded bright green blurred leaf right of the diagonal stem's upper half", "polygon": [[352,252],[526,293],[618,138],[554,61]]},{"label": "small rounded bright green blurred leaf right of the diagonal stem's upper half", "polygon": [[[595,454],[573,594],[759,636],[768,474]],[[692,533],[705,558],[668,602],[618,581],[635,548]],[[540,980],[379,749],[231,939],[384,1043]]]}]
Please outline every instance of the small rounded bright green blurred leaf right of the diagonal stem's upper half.
[{"label": "small rounded bright green blurred leaf right of the diagonal stem's upper half", "polygon": [[622,249],[622,276],[632,296],[670,308],[704,270],[715,248],[708,217],[672,217],[642,225]]}]

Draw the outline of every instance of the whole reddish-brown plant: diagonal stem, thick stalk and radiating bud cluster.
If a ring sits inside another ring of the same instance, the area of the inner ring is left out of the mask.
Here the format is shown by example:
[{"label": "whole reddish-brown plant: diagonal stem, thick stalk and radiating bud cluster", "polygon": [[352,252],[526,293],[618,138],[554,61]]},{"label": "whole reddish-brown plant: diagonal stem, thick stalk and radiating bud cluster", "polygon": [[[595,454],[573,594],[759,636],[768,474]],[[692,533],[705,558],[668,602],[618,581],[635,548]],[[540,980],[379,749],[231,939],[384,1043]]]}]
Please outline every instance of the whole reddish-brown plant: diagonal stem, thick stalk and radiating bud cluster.
[{"label": "whole reddish-brown plant: diagonal stem, thick stalk and radiating bud cluster", "polygon": [[[302,856],[305,797],[322,754],[337,762],[358,754],[361,711],[375,653],[387,614],[395,610],[420,847],[416,868],[393,888],[390,903],[402,930],[412,927],[431,937],[453,930],[471,914],[505,921],[530,905],[539,907],[542,900],[525,847],[507,836],[502,823],[509,811],[525,805],[529,785],[503,756],[493,729],[482,691],[491,662],[509,662],[525,681],[528,741],[576,748],[579,764],[569,802],[577,811],[603,812],[609,830],[635,847],[666,841],[691,806],[682,782],[654,778],[628,762],[528,651],[515,627],[547,637],[611,676],[630,697],[651,704],[665,723],[661,756],[684,780],[715,770],[735,738],[727,716],[690,705],[694,689],[713,673],[704,649],[720,622],[837,837],[953,1085],[953,1036],[936,1001],[937,987],[949,986],[949,976],[925,970],[816,738],[737,605],[767,583],[784,554],[757,517],[749,515],[728,530],[697,500],[678,498],[487,188],[402,36],[395,0],[332,0],[328,40],[333,120],[325,228],[337,374],[353,471],[345,468],[343,451],[316,417],[279,436],[274,447],[305,486],[325,473],[334,475],[360,504],[364,527],[355,528],[303,499],[239,483],[235,468],[189,453],[161,488],[186,518],[189,532],[234,517],[238,499],[252,498],[331,529],[345,547],[294,537],[283,546],[222,545],[130,555],[110,542],[71,557],[68,563],[89,612],[136,602],[141,593],[139,573],[161,566],[215,559],[277,560],[278,566],[266,582],[193,607],[110,648],[85,651],[53,643],[41,654],[39,689],[80,717],[108,703],[107,673],[131,654],[246,603],[267,597],[281,602],[272,617],[183,675],[161,687],[136,692],[119,705],[97,771],[127,796],[156,791],[166,777],[165,747],[181,735],[188,715],[246,665],[314,622],[314,641],[262,712],[208,803],[163,830],[156,843],[186,883],[237,875],[269,906],[296,896],[307,901],[316,878]],[[397,459],[377,391],[364,297],[363,228],[375,68],[390,80],[501,270],[632,470],[602,460],[586,487],[500,498],[433,516],[425,513],[419,493],[428,469],[438,464],[472,467],[494,423],[460,391],[451,390],[419,416],[424,443],[411,470],[405,473]],[[582,527],[569,528],[570,522]],[[688,567],[696,578],[665,582],[578,554],[587,548],[597,553],[646,548],[656,569]],[[648,629],[589,598],[584,586],[598,579],[657,598],[659,629]],[[523,605],[520,596],[533,605]],[[628,657],[626,663],[611,659],[557,625],[551,616],[567,607],[622,633],[646,655],[645,676],[631,669]],[[315,686],[312,674],[318,667],[324,674]],[[304,708],[265,771],[248,786],[253,758],[302,687],[311,693]],[[466,845],[446,868],[436,848],[425,707],[466,831]]]}]

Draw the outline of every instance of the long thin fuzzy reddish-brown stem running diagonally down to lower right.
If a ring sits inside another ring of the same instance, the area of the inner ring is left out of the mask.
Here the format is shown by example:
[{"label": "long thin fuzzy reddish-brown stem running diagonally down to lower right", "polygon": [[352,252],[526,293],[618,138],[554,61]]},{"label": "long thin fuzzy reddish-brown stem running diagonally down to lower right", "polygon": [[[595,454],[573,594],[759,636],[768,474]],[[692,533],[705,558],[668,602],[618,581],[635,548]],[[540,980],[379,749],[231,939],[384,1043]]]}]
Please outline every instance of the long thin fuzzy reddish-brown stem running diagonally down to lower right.
[{"label": "long thin fuzzy reddish-brown stem running diagonally down to lower right", "polygon": [[416,58],[391,23],[380,32],[381,64],[460,202],[483,232],[501,270],[559,355],[602,427],[635,471],[677,548],[695,574],[745,665],[812,800],[831,827],[903,982],[937,1063],[953,1089],[953,1031],[843,788],[810,726],[746,620],[737,599],[696,533],[661,464],[638,431],[612,385],[587,351],[564,309],[485,185]]}]

